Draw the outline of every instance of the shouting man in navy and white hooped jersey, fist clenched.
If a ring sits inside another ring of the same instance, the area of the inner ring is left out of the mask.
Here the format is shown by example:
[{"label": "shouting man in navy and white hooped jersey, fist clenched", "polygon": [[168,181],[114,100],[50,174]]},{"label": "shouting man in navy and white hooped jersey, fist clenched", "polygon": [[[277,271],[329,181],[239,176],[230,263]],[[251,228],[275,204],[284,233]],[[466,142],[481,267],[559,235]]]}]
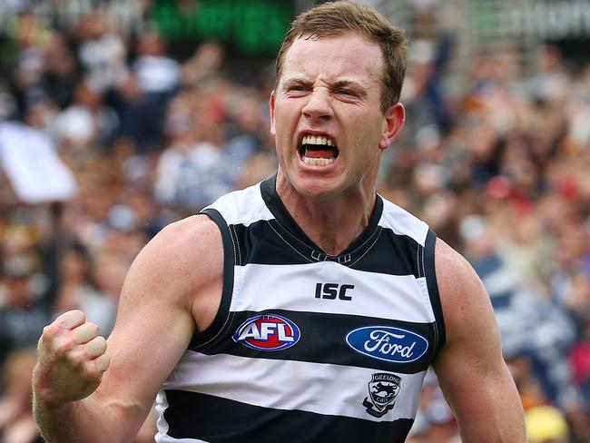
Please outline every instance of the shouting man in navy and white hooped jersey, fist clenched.
[{"label": "shouting man in navy and white hooped jersey, fist clenched", "polygon": [[160,442],[401,442],[430,364],[464,441],[525,441],[476,274],[375,191],[405,64],[369,7],[300,15],[270,95],[277,175],[144,248],[108,350],[80,311],[44,330],[49,442],[131,441],[156,394]]}]

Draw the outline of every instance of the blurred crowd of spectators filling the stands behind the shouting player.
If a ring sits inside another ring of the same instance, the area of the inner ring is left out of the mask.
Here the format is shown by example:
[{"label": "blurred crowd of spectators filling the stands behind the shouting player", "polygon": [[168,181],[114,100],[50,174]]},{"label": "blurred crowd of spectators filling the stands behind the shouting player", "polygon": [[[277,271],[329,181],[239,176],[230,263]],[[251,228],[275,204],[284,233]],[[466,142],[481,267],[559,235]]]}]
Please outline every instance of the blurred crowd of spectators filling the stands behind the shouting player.
[{"label": "blurred crowd of spectators filling the stands behind the shouting player", "polygon": [[[379,192],[484,281],[530,441],[590,441],[590,64],[545,44],[526,69],[506,45],[451,88],[454,43],[410,42],[407,126]],[[162,35],[130,37],[100,11],[56,30],[24,9],[0,54],[0,442],[30,443],[44,325],[81,309],[108,336],[156,232],[276,170],[274,72],[232,72],[215,42],[178,60]],[[149,418],[136,441],[154,432]],[[430,373],[409,440],[460,441]]]}]

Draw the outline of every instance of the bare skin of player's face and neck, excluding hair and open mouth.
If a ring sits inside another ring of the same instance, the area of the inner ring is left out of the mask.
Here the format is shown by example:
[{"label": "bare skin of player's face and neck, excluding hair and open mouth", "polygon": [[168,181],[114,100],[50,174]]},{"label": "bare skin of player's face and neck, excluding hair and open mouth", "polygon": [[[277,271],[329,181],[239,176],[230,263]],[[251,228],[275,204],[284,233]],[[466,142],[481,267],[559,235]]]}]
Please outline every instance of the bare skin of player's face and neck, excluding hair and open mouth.
[{"label": "bare skin of player's face and neck, excluding hair and open mouth", "polygon": [[[277,192],[323,251],[343,251],[367,226],[381,153],[404,123],[401,103],[381,112],[383,59],[378,44],[356,34],[296,39],[270,96]],[[339,155],[307,165],[302,135],[329,136]],[[338,232],[334,226],[339,226]]]}]

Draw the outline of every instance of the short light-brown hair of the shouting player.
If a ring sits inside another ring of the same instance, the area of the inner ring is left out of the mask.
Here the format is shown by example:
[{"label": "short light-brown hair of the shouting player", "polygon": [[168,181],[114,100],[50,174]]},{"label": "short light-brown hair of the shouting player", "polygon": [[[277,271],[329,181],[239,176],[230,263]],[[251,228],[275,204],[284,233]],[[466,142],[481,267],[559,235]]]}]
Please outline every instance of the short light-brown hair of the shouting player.
[{"label": "short light-brown hair of the shouting player", "polygon": [[384,61],[384,72],[381,77],[381,112],[385,113],[389,106],[399,101],[408,63],[408,44],[402,29],[389,23],[383,15],[368,5],[332,2],[314,6],[300,14],[280,44],[276,64],[276,85],[280,81],[285,54],[296,39],[303,35],[321,38],[347,33],[358,34],[379,44]]}]

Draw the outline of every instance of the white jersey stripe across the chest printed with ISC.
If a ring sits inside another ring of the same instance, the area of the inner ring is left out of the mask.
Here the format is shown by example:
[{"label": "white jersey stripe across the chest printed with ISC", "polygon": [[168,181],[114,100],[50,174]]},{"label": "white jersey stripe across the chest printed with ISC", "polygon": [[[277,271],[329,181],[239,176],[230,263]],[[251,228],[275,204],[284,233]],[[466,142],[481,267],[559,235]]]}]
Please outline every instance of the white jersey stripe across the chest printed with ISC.
[{"label": "white jersey stripe across the chest printed with ISC", "polygon": [[[232,311],[283,309],[413,322],[435,320],[426,282],[412,275],[350,270],[330,261],[291,266],[248,264],[234,272],[241,290],[234,293]],[[318,283],[354,286],[343,294],[351,300],[316,298]]]}]

